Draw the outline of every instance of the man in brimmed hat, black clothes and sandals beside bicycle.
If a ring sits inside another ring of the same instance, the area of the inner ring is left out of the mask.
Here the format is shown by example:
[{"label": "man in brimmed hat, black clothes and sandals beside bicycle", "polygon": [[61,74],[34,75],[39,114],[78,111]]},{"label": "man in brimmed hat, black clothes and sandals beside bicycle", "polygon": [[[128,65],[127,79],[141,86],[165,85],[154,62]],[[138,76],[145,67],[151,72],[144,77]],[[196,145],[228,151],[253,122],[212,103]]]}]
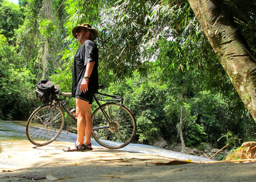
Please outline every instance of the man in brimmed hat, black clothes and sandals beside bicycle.
[{"label": "man in brimmed hat, black clothes and sandals beside bicycle", "polygon": [[93,93],[98,89],[98,49],[93,40],[98,36],[98,32],[89,24],[83,23],[75,26],[72,34],[81,44],[74,55],[72,80],[72,97],[75,97],[77,116],[77,138],[74,145],[64,151],[92,150],[90,109]]}]

